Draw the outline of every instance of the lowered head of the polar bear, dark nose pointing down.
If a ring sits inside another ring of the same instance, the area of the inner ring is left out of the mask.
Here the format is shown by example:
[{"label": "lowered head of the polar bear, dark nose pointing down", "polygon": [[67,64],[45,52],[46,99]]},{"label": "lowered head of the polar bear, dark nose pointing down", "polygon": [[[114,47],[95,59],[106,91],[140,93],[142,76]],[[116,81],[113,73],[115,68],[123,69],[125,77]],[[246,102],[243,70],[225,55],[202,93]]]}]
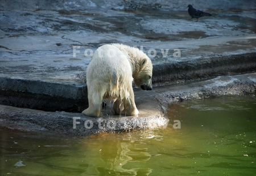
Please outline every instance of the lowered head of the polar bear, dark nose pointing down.
[{"label": "lowered head of the polar bear, dark nose pointing down", "polygon": [[139,61],[139,69],[133,75],[134,83],[145,91],[152,90],[152,62],[147,58],[143,58]]}]

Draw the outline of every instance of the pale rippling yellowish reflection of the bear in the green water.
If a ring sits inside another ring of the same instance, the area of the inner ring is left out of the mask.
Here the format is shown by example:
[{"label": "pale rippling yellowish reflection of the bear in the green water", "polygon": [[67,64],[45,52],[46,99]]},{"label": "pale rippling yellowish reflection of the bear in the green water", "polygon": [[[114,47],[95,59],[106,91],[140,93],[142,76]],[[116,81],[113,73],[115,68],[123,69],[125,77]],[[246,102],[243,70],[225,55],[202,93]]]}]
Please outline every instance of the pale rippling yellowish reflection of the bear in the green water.
[{"label": "pale rippling yellowish reflection of the bear in the green water", "polygon": [[[142,137],[142,136],[141,136]],[[115,138],[115,140],[113,140]],[[152,171],[148,168],[147,161],[151,154],[144,145],[143,137],[137,140],[132,134],[108,134],[103,133],[97,136],[90,136],[91,143],[85,143],[89,156],[98,161],[90,162],[89,173],[100,175],[149,175]],[[97,153],[97,156],[95,156]],[[100,160],[100,161],[99,161]],[[95,165],[97,162],[97,165]],[[143,164],[144,163],[144,166]]]}]

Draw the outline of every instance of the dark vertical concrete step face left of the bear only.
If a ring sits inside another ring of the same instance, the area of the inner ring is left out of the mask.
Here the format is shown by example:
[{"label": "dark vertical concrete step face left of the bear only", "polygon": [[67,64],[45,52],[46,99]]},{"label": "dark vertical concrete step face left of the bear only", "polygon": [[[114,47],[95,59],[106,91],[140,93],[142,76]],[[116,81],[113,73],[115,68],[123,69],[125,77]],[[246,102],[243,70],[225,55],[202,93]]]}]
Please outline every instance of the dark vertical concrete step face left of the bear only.
[{"label": "dark vertical concrete step face left of the bear only", "polygon": [[0,104],[46,111],[80,112],[88,104],[84,85],[0,78]]}]

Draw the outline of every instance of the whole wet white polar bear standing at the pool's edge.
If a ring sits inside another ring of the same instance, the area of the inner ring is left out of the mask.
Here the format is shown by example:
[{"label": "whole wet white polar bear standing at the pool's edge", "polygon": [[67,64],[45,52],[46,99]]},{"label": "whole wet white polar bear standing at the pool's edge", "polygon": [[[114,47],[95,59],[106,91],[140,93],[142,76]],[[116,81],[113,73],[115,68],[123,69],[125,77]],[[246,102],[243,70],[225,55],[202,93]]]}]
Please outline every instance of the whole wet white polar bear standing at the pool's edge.
[{"label": "whole wet white polar bear standing at the pool's edge", "polygon": [[138,48],[123,44],[101,46],[86,70],[89,107],[82,114],[100,117],[105,98],[114,102],[112,114],[138,114],[132,82],[151,90],[152,68],[151,60]]}]

